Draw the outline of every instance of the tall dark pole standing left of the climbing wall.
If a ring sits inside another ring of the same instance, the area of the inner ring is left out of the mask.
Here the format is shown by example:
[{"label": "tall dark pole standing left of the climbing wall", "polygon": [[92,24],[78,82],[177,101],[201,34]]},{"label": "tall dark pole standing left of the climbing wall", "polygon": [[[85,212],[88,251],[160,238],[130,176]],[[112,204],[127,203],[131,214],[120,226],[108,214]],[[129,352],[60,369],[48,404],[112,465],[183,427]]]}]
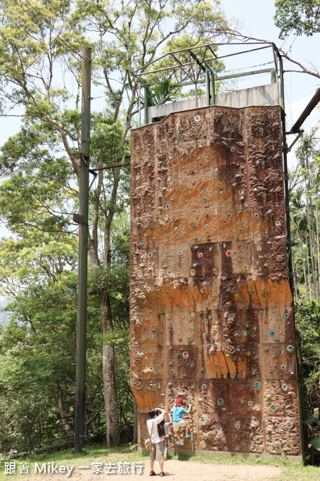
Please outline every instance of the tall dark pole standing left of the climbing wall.
[{"label": "tall dark pole standing left of the climbing wall", "polygon": [[86,401],[86,342],[87,342],[87,275],[88,275],[88,216],[89,216],[89,150],[91,101],[91,49],[82,49],[82,118],[80,160],[78,306],[77,306],[77,365],[75,393],[75,452],[81,453],[84,439]]}]

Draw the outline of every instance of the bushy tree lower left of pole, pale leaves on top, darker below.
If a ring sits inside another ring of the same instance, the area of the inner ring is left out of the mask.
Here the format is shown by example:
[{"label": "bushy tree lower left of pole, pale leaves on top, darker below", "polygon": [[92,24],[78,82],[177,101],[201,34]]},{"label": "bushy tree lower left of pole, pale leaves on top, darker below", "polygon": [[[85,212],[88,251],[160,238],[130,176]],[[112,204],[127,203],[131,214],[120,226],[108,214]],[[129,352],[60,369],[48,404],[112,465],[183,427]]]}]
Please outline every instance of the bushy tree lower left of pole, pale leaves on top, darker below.
[{"label": "bushy tree lower left of pole, pale leaves on top, darker below", "polygon": [[74,390],[69,380],[75,357],[76,276],[70,270],[75,241],[31,227],[23,238],[0,243],[2,292],[11,298],[10,322],[0,335],[0,403],[8,421],[1,428],[15,449],[31,451],[41,444],[43,423],[57,415],[65,433],[73,435],[68,416]]}]

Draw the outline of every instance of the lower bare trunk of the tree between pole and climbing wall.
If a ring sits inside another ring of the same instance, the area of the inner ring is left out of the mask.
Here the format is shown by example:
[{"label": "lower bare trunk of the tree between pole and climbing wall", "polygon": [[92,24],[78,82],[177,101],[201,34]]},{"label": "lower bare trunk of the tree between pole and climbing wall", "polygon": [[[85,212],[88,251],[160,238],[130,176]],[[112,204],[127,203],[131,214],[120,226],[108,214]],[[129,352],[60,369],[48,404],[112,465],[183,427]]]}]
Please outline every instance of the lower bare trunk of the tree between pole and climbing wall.
[{"label": "lower bare trunk of the tree between pole and climbing wall", "polygon": [[[103,336],[113,332],[113,318],[110,296],[107,292],[100,295],[101,320]],[[105,425],[107,447],[120,443],[120,427],[118,418],[117,385],[115,382],[115,351],[112,344],[103,338],[103,391],[105,399]]]}]

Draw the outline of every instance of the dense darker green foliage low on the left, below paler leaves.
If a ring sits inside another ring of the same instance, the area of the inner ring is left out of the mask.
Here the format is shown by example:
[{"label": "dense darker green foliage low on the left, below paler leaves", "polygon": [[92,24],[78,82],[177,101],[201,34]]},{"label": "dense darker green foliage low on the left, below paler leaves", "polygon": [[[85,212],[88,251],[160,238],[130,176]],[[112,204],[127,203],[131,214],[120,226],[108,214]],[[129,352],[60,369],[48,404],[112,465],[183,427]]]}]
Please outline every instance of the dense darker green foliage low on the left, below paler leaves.
[{"label": "dense darker green foliage low on the left, below paler leaves", "polygon": [[0,449],[34,449],[65,437],[57,423],[57,386],[65,409],[74,403],[75,275],[25,289],[8,304],[11,320],[1,327]]}]

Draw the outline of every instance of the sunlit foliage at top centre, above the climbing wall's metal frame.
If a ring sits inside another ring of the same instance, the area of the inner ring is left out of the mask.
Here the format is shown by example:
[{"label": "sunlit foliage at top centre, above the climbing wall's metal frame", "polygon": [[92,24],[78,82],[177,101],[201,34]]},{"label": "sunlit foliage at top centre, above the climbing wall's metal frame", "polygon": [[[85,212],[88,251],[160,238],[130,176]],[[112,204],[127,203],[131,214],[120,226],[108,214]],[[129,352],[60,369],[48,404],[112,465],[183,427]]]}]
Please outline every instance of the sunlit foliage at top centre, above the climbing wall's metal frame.
[{"label": "sunlit foliage at top centre, above the climbing wall's metal frame", "polygon": [[[133,0],[122,5],[117,2],[82,1],[77,3],[75,15],[84,23],[100,27],[101,43],[97,44],[97,65],[102,65],[110,75],[121,70],[122,75],[129,70],[145,65],[155,58],[158,48],[181,32],[197,35],[212,26],[222,27],[226,20],[217,1],[213,4],[202,0],[181,0],[148,2]],[[167,23],[170,32],[167,32]]]}]

